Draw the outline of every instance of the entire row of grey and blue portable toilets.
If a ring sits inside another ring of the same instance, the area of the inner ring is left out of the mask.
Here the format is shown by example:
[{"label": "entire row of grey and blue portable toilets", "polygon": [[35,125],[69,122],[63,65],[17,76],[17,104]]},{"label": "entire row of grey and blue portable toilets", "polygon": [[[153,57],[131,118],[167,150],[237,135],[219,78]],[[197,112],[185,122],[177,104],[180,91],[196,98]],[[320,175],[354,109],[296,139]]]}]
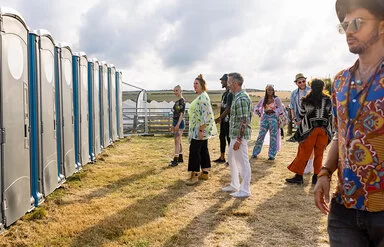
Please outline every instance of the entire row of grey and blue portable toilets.
[{"label": "entire row of grey and blue portable toilets", "polygon": [[122,74],[0,8],[0,230],[123,137]]}]

